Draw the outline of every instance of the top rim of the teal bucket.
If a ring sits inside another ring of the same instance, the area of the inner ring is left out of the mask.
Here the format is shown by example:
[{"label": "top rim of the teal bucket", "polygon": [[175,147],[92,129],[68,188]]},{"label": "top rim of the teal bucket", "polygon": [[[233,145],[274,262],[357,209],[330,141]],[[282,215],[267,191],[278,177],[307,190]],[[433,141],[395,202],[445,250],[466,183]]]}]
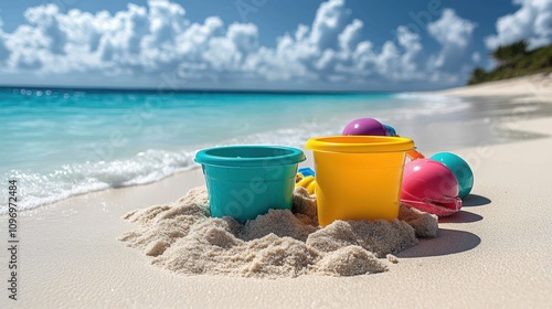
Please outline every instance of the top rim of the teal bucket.
[{"label": "top rim of the teal bucket", "polygon": [[[212,152],[223,151],[223,150],[246,150],[246,149],[262,149],[265,151],[276,150],[276,151],[288,151],[286,154],[277,154],[277,156],[263,156],[263,157],[225,157],[225,156],[215,156]],[[210,153],[211,152],[211,153]],[[307,158],[302,150],[285,147],[285,146],[255,146],[255,145],[235,145],[235,146],[221,146],[206,148],[198,151],[195,153],[194,161],[200,164],[208,166],[219,166],[219,167],[229,167],[229,168],[241,168],[241,167],[274,167],[274,166],[285,166],[285,164],[297,164],[299,162],[305,161]]]}]

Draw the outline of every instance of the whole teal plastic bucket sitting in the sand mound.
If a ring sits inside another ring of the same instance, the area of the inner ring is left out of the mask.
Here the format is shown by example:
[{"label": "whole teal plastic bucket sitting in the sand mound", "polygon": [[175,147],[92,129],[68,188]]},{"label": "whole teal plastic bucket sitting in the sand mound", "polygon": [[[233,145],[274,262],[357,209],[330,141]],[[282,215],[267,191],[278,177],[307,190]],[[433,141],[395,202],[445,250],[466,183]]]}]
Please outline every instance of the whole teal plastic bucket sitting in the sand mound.
[{"label": "whole teal plastic bucket sitting in the sand mound", "polygon": [[211,216],[244,222],[269,209],[290,210],[301,150],[279,146],[226,146],[195,154],[202,164]]}]

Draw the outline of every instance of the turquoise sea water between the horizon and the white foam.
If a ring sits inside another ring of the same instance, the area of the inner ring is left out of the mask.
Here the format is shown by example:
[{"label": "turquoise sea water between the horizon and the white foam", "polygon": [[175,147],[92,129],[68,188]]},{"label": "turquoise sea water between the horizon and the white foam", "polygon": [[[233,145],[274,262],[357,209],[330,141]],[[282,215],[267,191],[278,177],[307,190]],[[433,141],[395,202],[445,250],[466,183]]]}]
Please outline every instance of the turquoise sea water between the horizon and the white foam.
[{"label": "turquoise sea water between the horizon and the white foam", "polygon": [[[251,140],[278,129],[323,125],[342,108],[361,110],[368,102],[373,108],[383,108],[379,105],[389,98],[385,94],[158,95],[11,89],[0,93],[0,120],[7,132],[2,146],[9,150],[0,153],[0,160],[9,169],[47,170],[146,151],[182,152]],[[278,138],[273,142],[280,141],[293,142]]]}]

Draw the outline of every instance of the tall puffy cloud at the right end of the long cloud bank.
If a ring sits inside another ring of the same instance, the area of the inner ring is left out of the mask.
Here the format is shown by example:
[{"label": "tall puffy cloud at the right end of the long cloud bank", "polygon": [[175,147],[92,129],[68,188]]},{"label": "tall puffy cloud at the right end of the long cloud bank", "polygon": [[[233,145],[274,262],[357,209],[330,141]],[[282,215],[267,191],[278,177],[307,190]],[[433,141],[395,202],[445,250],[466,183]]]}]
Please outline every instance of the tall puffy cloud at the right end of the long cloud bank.
[{"label": "tall puffy cloud at the right end of the long cloud bank", "polygon": [[457,72],[463,65],[466,47],[471,42],[476,23],[463,19],[452,9],[444,9],[440,18],[427,24],[427,32],[439,42],[442,49],[429,60],[429,66]]}]

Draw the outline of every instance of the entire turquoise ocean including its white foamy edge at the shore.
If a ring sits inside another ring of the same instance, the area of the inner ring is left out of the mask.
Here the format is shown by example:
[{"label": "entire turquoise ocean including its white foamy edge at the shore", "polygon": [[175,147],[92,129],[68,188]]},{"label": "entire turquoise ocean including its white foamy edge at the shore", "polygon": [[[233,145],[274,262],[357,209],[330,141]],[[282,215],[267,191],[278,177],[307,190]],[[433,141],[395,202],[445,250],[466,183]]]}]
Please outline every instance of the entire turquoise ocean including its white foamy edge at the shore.
[{"label": "entire turquoise ocean including its white foamy edge at the shore", "polygon": [[[2,88],[0,175],[18,180],[18,206],[26,210],[197,168],[194,153],[206,147],[302,147],[311,137],[339,135],[358,117],[392,125],[424,151],[524,138],[492,126],[511,108],[423,94]],[[481,135],[463,135],[464,126]],[[7,200],[0,190],[0,213]]]}]

